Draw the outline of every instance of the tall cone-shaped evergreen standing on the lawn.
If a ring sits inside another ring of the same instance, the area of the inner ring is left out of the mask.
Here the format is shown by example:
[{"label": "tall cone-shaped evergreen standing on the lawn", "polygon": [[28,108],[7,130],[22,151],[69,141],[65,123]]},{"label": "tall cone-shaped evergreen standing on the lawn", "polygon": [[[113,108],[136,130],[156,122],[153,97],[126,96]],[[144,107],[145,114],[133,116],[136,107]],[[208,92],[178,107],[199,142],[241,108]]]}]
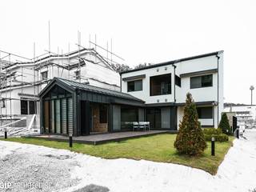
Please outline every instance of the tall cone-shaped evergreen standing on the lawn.
[{"label": "tall cone-shaped evergreen standing on the lawn", "polygon": [[174,147],[180,154],[199,155],[206,149],[206,141],[198,121],[198,112],[190,93],[186,94],[184,116],[179,124],[179,130]]}]

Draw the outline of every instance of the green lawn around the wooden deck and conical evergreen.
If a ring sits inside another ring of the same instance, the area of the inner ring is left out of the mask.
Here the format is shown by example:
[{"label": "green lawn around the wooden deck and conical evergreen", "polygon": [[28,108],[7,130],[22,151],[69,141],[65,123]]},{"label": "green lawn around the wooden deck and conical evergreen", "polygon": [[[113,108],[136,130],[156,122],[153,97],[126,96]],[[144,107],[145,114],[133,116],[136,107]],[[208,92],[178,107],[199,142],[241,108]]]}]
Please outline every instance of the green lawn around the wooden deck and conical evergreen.
[{"label": "green lawn around the wooden deck and conical evergreen", "polygon": [[223,161],[234,140],[233,137],[230,137],[229,142],[216,142],[215,156],[210,155],[210,142],[207,142],[207,149],[201,156],[190,157],[177,154],[174,148],[175,138],[176,134],[158,134],[127,139],[122,142],[109,142],[98,146],[74,143],[71,149],[68,142],[47,141],[42,138],[8,138],[7,141],[72,150],[101,158],[130,158],[136,160],[146,159],[154,162],[172,162],[206,170],[210,174],[216,174],[218,166]]}]

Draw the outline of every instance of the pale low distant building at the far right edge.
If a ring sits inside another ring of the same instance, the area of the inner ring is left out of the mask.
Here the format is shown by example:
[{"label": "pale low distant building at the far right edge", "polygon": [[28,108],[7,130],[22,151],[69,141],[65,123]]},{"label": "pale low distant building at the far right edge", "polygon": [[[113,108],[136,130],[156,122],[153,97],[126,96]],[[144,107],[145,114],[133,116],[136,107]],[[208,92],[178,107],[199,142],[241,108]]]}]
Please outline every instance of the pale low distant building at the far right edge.
[{"label": "pale low distant building at the far right edge", "polygon": [[234,112],[238,118],[238,125],[256,120],[256,105],[224,103],[224,112]]}]

